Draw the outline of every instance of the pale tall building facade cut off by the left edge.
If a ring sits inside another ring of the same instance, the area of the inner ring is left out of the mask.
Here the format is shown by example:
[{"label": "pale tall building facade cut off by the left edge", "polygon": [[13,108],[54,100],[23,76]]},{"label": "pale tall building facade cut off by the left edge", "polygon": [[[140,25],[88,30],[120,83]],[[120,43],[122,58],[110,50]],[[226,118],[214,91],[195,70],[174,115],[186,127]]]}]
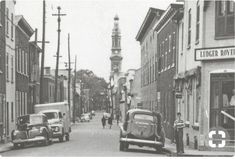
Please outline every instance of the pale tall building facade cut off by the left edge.
[{"label": "pale tall building facade cut off by the left edge", "polygon": [[[1,78],[4,78],[0,109],[2,114],[0,117],[0,129],[3,140],[10,139],[10,132],[15,127],[15,1],[1,1],[1,63],[3,72]],[[3,65],[4,64],[4,65]],[[4,70],[3,70],[4,69]],[[4,88],[5,87],[5,88]]]}]

